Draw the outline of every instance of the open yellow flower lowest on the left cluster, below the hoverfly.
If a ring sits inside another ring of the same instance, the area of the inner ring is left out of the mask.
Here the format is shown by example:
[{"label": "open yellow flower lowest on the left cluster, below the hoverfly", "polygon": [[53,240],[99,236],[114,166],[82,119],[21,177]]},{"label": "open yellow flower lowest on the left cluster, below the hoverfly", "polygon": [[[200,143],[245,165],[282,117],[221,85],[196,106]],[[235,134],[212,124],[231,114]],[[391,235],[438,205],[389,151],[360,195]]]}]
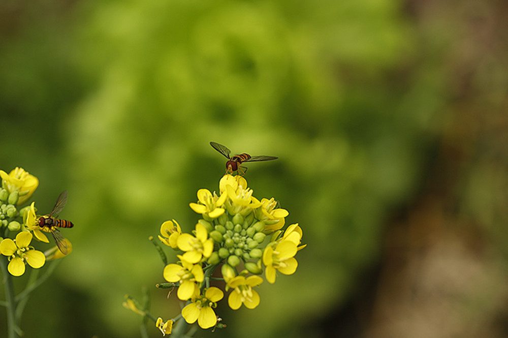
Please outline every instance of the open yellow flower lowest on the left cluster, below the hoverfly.
[{"label": "open yellow flower lowest on the left cluster, below the hoverfly", "polygon": [[28,231],[21,231],[16,235],[15,240],[5,238],[0,243],[0,253],[9,257],[10,262],[7,269],[13,276],[25,273],[26,263],[38,269],[46,262],[46,257],[42,252],[28,246],[32,238],[32,234]]}]

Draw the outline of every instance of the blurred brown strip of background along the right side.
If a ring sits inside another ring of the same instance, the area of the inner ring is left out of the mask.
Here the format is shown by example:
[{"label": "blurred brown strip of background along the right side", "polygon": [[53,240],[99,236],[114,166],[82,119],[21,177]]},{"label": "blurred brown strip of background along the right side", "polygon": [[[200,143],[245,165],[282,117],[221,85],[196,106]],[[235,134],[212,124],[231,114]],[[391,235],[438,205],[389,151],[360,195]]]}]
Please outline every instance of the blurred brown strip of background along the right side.
[{"label": "blurred brown strip of background along the right side", "polygon": [[388,225],[361,336],[505,337],[508,4],[409,5],[420,29],[453,37],[442,59],[452,97],[421,195]]}]

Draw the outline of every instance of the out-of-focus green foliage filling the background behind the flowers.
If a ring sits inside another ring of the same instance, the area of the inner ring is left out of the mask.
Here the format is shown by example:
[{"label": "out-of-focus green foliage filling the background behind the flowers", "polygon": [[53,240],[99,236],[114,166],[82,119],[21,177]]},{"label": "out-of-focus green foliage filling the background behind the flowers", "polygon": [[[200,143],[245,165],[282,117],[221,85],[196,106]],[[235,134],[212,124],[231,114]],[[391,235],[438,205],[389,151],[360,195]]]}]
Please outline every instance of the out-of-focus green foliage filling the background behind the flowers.
[{"label": "out-of-focus green foliage filling the background behind the flowers", "polygon": [[[296,278],[261,286],[257,310],[224,315],[230,336],[275,336],[347,298],[379,259],[390,211],[423,184],[449,100],[449,38],[419,31],[399,2],[2,6],[13,17],[1,32],[2,169],[52,182],[37,192],[43,210],[67,189],[62,217],[76,224],[75,251],[45,286],[57,296],[31,300],[57,297],[52,314],[66,324],[37,305],[26,318],[45,329],[27,336],[138,336],[122,296],[162,281],[146,238],[172,218],[193,228],[188,203],[217,189],[225,159],[211,140],[279,157],[246,178],[309,244]],[[470,179],[484,187],[483,177]],[[263,324],[245,332],[246,321]]]}]

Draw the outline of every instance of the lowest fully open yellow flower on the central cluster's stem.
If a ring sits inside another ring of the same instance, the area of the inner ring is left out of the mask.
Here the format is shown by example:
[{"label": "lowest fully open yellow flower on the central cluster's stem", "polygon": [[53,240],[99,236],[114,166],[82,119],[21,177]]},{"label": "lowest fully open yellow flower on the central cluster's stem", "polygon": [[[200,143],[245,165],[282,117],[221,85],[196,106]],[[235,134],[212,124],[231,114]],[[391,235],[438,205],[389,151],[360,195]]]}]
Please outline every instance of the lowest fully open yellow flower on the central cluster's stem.
[{"label": "lowest fully open yellow flower on the central cluster's stem", "polygon": [[189,324],[197,320],[201,328],[207,329],[217,324],[217,316],[213,309],[217,307],[217,301],[224,297],[224,293],[214,286],[204,291],[204,295],[201,295],[199,290],[194,293],[192,303],[182,309],[182,317]]}]

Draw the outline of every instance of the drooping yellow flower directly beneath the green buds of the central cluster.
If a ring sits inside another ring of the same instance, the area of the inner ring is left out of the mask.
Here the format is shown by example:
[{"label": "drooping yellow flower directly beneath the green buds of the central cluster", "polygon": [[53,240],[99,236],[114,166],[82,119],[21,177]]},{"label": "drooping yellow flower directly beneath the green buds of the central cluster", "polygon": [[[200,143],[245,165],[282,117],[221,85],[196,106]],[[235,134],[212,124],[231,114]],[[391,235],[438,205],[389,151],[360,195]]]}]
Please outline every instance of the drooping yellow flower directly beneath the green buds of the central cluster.
[{"label": "drooping yellow flower directly beneath the green buds of the central cluster", "polygon": [[263,279],[260,276],[236,276],[229,280],[226,290],[234,289],[228,297],[229,307],[233,310],[240,309],[240,306],[244,304],[247,309],[254,309],[259,305],[260,298],[259,294],[252,290],[253,286],[257,286],[263,283]]}]

